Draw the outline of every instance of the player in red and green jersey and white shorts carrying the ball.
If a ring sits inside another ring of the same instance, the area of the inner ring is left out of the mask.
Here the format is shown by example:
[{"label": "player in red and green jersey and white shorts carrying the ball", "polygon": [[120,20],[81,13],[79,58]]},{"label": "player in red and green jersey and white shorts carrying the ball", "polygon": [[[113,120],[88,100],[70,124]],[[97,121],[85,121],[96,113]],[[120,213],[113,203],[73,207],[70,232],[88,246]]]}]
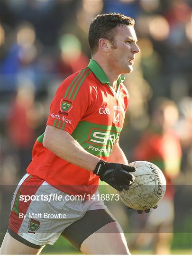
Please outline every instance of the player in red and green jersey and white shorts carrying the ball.
[{"label": "player in red and green jersey and white shorts carrying the ball", "polygon": [[[45,133],[13,196],[1,254],[39,254],[61,234],[84,254],[129,254],[97,188],[99,178],[118,191],[134,181],[135,168],[118,142],[128,107],[121,74],[132,72],[139,52],[134,24],[112,13],[92,21],[92,58],[55,93]],[[70,195],[82,200],[69,200]],[[59,196],[62,200],[54,199]]]}]

